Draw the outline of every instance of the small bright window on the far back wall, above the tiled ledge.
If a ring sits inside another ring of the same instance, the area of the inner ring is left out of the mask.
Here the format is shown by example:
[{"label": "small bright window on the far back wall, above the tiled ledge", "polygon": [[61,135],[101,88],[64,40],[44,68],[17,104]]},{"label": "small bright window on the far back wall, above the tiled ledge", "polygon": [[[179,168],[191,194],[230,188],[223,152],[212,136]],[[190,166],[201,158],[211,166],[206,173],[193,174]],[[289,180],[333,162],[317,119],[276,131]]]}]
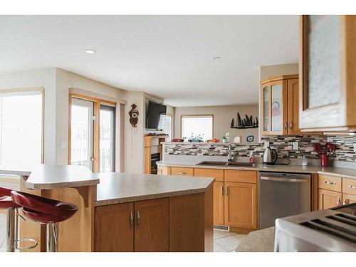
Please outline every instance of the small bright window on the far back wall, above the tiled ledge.
[{"label": "small bright window on the far back wall, above the tiled ledge", "polygon": [[213,115],[182,115],[182,138],[201,136],[204,141],[213,137]]}]

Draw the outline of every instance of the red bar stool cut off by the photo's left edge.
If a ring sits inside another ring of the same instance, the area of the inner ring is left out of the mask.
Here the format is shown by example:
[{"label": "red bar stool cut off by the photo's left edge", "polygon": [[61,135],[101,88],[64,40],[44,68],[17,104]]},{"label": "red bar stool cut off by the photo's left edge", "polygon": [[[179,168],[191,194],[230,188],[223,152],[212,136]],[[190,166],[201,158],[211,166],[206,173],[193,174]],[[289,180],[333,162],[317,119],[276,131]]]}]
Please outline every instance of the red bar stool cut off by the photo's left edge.
[{"label": "red bar stool cut off by the photo's left edge", "polygon": [[6,251],[14,252],[18,241],[20,206],[11,200],[11,189],[0,187],[0,209],[6,209]]}]

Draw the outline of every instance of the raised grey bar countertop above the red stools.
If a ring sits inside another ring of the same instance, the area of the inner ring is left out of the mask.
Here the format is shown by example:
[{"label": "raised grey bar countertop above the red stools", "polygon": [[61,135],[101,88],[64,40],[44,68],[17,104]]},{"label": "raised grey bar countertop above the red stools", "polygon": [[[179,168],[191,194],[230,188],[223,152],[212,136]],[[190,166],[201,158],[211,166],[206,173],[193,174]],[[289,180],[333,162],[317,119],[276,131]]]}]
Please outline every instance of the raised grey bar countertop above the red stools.
[{"label": "raised grey bar countertop above the red stools", "polygon": [[98,175],[84,166],[38,164],[27,169],[0,167],[0,174],[28,177],[26,187],[29,189],[56,189],[99,184]]}]

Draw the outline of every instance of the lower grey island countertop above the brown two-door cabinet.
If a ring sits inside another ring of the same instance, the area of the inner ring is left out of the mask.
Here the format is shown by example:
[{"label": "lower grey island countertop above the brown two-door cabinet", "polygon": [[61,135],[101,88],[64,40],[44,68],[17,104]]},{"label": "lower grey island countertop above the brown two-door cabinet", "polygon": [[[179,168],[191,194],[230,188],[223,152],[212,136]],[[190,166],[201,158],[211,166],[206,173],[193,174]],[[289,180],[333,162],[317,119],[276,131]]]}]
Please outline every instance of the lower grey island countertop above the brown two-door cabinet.
[{"label": "lower grey island countertop above the brown two-door cabinet", "polygon": [[214,178],[109,172],[98,174],[95,206],[205,192]]}]

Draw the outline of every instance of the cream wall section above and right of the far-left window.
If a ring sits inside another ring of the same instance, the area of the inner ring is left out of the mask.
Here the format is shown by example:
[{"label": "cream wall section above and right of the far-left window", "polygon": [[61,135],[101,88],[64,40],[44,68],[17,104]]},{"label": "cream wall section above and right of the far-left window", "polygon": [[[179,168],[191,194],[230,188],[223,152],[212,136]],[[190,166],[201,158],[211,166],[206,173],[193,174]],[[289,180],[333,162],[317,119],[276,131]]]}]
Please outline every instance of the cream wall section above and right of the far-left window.
[{"label": "cream wall section above and right of the far-left window", "polygon": [[44,162],[56,163],[56,68],[0,73],[0,90],[44,88]]}]

